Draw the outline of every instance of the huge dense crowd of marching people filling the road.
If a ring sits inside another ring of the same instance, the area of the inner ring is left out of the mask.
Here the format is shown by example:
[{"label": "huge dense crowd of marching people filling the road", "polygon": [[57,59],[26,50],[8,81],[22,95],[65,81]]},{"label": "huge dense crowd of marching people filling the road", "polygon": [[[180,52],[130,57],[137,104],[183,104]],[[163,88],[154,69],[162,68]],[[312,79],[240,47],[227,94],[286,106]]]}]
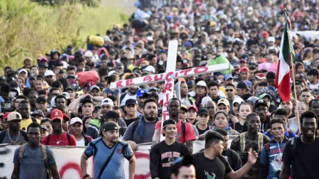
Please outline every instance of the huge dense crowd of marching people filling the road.
[{"label": "huge dense crowd of marching people filling the road", "polygon": [[[152,143],[152,179],[319,177],[318,37],[291,35],[295,86],[288,102],[275,86],[285,10],[292,31],[312,33],[319,30],[318,0],[136,5],[128,24],[90,36],[85,49],[70,45],[4,68],[0,144],[24,143],[14,152],[11,178],[60,178],[49,146],[83,146],[84,179],[125,178],[124,160],[133,179],[142,143]],[[164,82],[116,90],[110,83],[165,73],[169,40],[178,41],[177,71],[231,67],[176,79],[162,121]],[[196,153],[194,140],[205,143]]]}]

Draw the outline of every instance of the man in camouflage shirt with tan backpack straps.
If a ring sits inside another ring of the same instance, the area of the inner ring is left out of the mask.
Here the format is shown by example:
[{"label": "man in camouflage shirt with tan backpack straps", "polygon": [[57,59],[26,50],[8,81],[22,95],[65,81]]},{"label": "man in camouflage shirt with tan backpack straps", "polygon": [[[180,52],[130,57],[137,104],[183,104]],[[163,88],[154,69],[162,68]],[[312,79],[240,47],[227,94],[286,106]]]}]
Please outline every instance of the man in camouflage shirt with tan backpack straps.
[{"label": "man in camouflage shirt with tan backpack straps", "polygon": [[247,162],[247,152],[249,151],[249,148],[252,148],[258,152],[257,162],[243,177],[243,179],[258,179],[261,149],[263,148],[263,145],[270,141],[270,139],[266,135],[258,132],[260,128],[260,118],[258,114],[251,113],[247,115],[246,122],[248,125],[248,131],[236,136],[233,139],[230,148],[239,154],[239,157],[242,161],[242,166]]}]

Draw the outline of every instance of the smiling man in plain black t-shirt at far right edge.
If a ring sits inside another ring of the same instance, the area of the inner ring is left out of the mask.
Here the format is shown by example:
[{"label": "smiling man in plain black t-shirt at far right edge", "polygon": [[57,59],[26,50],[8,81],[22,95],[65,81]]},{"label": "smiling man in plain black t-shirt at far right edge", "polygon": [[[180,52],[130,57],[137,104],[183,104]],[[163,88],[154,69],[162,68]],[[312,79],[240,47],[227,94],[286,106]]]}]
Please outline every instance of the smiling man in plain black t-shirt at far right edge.
[{"label": "smiling man in plain black t-shirt at far right edge", "polygon": [[289,140],[285,145],[280,179],[289,177],[291,165],[294,179],[319,178],[319,170],[316,167],[319,159],[319,138],[315,136],[317,115],[313,111],[305,111],[301,114],[300,124],[303,131],[301,136]]}]

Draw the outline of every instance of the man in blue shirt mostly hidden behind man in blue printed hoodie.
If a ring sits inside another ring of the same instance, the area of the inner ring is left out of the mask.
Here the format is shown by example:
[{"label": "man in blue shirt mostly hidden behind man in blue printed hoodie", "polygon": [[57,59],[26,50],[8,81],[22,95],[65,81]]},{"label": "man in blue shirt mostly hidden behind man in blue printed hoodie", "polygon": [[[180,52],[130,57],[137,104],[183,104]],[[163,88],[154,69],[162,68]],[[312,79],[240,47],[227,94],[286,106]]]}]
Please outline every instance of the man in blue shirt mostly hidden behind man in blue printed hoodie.
[{"label": "man in blue shirt mostly hidden behind man in blue printed hoodie", "polygon": [[[293,138],[293,137],[297,137],[297,135],[293,132],[290,132],[287,130],[286,128],[286,124],[287,124],[287,121],[288,121],[288,114],[287,114],[287,111],[284,110],[284,109],[277,109],[275,112],[274,112],[274,118],[273,119],[281,119],[285,122],[285,125],[284,125],[284,129],[285,129],[285,133],[284,133],[284,136],[288,139],[290,138]],[[264,132],[263,133],[264,135],[268,136],[270,138],[270,140],[272,140],[274,138],[273,134],[271,133],[270,129],[267,130],[267,132]]]}]

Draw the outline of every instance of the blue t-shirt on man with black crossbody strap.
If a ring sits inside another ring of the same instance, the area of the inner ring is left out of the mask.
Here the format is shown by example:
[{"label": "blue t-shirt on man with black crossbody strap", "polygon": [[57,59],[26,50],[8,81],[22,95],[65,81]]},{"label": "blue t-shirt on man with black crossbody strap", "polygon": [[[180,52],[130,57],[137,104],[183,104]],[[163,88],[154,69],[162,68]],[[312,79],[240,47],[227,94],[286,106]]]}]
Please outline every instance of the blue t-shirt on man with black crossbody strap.
[{"label": "blue t-shirt on man with black crossbody strap", "polygon": [[[92,144],[91,144],[92,143]],[[124,158],[130,160],[134,155],[130,145],[125,145],[126,142],[118,141],[115,152],[108,163],[108,166],[104,169],[101,178],[112,178],[112,179],[125,179],[124,174]],[[95,147],[93,147],[95,146]],[[87,145],[84,153],[87,157],[94,155],[93,170],[94,178],[97,178],[100,174],[100,170],[104,165],[108,156],[113,152],[115,145],[109,148],[102,138],[97,138]]]}]

